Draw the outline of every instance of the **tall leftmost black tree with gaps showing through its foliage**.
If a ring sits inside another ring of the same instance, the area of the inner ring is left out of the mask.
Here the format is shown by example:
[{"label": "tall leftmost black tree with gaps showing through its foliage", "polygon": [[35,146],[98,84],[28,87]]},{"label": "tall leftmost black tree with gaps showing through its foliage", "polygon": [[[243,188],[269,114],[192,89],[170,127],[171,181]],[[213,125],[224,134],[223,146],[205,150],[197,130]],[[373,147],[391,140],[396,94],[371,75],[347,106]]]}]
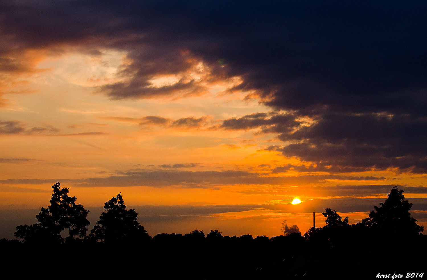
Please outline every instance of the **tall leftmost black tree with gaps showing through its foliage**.
[{"label": "tall leftmost black tree with gaps showing through its foliage", "polygon": [[62,243],[64,239],[61,233],[67,230],[68,236],[65,241],[75,239],[76,236],[86,236],[89,221],[86,219],[88,210],[82,205],[76,204],[76,197],[68,196],[68,189],[59,188],[57,182],[52,186],[53,194],[50,206],[42,207],[41,212],[36,215],[37,223],[33,225],[20,225],[16,227],[15,236],[25,242],[51,242]]}]

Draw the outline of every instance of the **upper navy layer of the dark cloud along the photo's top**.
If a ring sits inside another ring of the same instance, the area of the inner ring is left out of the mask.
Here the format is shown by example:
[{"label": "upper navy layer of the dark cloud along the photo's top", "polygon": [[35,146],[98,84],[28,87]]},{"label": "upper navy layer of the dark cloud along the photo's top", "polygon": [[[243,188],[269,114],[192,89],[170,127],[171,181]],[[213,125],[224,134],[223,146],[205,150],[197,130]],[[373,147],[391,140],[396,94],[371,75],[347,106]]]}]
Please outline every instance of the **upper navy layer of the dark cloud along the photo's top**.
[{"label": "upper navy layer of the dark cloud along the photo's top", "polygon": [[224,59],[222,74],[243,77],[240,88],[279,108],[425,115],[420,1],[34,2],[2,4],[5,38],[15,49],[91,42],[129,50],[123,74],[134,78],[111,85],[113,97],[159,94],[148,80],[188,70],[188,50],[211,65]]}]

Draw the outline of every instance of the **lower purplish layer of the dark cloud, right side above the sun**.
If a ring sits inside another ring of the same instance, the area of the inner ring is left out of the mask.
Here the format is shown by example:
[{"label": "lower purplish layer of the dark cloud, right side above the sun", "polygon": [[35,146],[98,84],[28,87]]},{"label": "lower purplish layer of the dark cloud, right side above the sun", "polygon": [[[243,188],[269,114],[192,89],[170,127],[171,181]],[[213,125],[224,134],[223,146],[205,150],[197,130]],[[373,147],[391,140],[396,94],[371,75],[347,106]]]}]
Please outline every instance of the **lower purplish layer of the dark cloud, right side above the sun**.
[{"label": "lower purplish layer of the dark cloud, right side above the sun", "polygon": [[[271,146],[286,156],[298,156],[317,167],[287,166],[298,171],[366,171],[389,167],[402,171],[427,171],[427,121],[409,115],[325,113],[315,124],[295,132],[284,131],[282,141],[297,141],[285,147]],[[332,168],[326,166],[332,165]]]}]

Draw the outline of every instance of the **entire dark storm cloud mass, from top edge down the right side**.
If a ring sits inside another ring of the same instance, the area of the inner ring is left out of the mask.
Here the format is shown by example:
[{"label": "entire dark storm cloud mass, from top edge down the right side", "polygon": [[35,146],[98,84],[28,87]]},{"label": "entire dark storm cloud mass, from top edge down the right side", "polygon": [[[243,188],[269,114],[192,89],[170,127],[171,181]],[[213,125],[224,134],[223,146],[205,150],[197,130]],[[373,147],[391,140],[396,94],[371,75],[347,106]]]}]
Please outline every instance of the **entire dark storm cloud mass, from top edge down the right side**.
[{"label": "entire dark storm cloud mass, from top edge down the right side", "polygon": [[[231,90],[252,91],[292,115],[249,115],[222,129],[278,133],[294,142],[280,149],[285,156],[319,168],[424,173],[426,8],[366,0],[3,1],[0,71],[35,71],[23,56],[31,48],[124,50],[126,82],[99,88],[113,99],[203,94],[206,83],[237,76],[243,82]],[[161,75],[178,80],[153,86]],[[300,117],[316,122],[304,127]],[[18,124],[7,125],[4,131],[19,133]]]}]

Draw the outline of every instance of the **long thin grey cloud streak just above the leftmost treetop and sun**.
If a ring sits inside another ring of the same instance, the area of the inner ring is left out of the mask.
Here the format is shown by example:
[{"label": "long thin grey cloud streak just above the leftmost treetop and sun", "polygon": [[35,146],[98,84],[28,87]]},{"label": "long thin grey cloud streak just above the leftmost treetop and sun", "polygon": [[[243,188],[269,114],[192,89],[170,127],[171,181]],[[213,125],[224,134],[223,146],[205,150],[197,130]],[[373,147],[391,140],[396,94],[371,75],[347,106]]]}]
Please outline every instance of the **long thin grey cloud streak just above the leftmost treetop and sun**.
[{"label": "long thin grey cloud streak just above the leftmost treetop and sun", "polygon": [[[173,168],[185,167],[173,165]],[[248,171],[180,171],[169,169],[171,165],[160,165],[166,169],[133,169],[126,172],[117,172],[109,177],[91,177],[86,179],[7,179],[0,180],[1,184],[42,184],[60,181],[70,183],[76,187],[105,187],[105,186],[152,186],[178,188],[218,188],[233,185],[274,185],[289,186],[298,183],[315,183],[328,180],[353,180],[353,181],[382,181],[385,177],[375,176],[345,176],[345,175],[299,175],[290,177],[270,177],[267,174],[252,173]],[[187,166],[188,167],[188,166]]]}]

